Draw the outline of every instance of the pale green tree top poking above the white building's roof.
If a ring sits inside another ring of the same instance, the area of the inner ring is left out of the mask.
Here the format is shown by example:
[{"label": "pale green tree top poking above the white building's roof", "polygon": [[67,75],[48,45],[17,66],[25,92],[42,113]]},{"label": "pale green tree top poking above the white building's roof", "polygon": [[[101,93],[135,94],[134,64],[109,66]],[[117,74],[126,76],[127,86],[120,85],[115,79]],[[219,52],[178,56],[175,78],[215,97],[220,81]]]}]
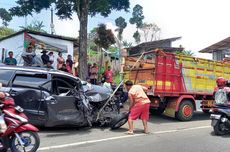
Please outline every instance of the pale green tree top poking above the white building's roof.
[{"label": "pale green tree top poking above the white building's roof", "polygon": [[47,33],[43,28],[45,27],[45,25],[43,24],[43,21],[33,21],[32,23],[30,23],[28,26],[24,27],[24,26],[20,26],[20,28],[22,29],[28,29],[31,31],[36,31],[36,32],[44,32]]}]

